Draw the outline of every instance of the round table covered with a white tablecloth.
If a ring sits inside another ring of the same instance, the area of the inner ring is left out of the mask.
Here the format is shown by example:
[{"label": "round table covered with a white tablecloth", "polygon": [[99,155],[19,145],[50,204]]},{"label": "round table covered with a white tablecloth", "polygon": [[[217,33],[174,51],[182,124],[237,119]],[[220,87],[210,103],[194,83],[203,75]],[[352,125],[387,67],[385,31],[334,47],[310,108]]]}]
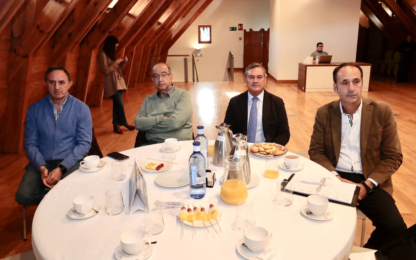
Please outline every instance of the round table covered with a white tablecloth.
[{"label": "round table covered with a white tablecloth", "polygon": [[[188,159],[193,151],[192,141],[180,141],[179,144],[181,149],[176,152],[174,160],[178,164],[174,164],[168,171],[189,176]],[[123,151],[123,154],[130,156],[126,161],[127,178],[123,181],[111,180],[111,162],[114,160],[109,157],[102,158],[107,163],[99,171],[87,173],[77,170],[59,181],[37,207],[33,218],[32,246],[37,260],[116,259],[114,250],[120,243],[121,234],[126,230],[140,228],[144,222],[143,211],[129,215],[129,178],[134,158],[141,161],[151,161],[146,157],[162,158],[159,150],[161,145]],[[283,158],[280,157],[280,160]],[[207,188],[206,196],[199,200],[189,196],[188,185],[164,188],[155,183],[159,173],[142,171],[149,205],[159,200],[209,208],[212,203],[223,211],[223,217],[219,221],[222,232],[215,233],[212,227],[208,227],[210,233],[205,228],[196,228],[194,234],[193,228],[185,225],[183,236],[182,223],[178,218],[163,214],[163,232],[153,236],[146,235],[150,241],[157,241],[148,259],[244,259],[236,250],[238,240],[243,238],[243,232],[234,227],[236,206],[225,204],[219,196],[223,168],[214,166],[212,158],[210,161],[210,168],[216,169],[217,181],[213,188]],[[334,218],[318,221],[306,218],[300,212],[300,208],[306,204],[304,196],[294,194],[293,204],[285,210],[274,204],[277,182],[288,178],[291,173],[333,176],[322,166],[302,156],[300,162],[305,165],[302,170],[291,172],[279,169],[279,178],[268,179],[262,176],[265,159],[250,154],[251,174],[258,175],[260,183],[248,189],[247,201],[254,201],[256,225],[273,234],[271,243],[275,245],[277,252],[272,259],[348,259],[357,223],[354,207],[330,202],[329,208],[334,211]],[[104,193],[113,188],[119,188],[124,199],[125,209],[119,215],[107,215],[104,210]],[[67,212],[72,208],[72,200],[82,194],[93,195],[101,210],[90,218],[72,220]],[[214,227],[219,231],[216,224]]]}]

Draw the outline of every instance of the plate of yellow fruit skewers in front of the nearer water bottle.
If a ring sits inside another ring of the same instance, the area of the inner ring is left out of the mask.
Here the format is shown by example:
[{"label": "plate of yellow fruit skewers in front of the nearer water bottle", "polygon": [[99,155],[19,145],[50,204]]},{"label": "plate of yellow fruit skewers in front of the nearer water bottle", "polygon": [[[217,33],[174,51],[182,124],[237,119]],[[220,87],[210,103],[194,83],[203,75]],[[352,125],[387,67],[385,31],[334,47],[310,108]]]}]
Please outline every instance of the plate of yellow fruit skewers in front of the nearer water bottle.
[{"label": "plate of yellow fruit skewers in front of the nearer water bottle", "polygon": [[178,218],[184,225],[194,226],[196,228],[203,228],[210,225],[213,226],[218,223],[222,217],[223,212],[218,210],[213,204],[210,204],[208,210],[205,210],[205,208],[201,206],[200,208],[194,206],[193,210],[191,210],[188,205],[188,208],[182,207],[178,213]]}]

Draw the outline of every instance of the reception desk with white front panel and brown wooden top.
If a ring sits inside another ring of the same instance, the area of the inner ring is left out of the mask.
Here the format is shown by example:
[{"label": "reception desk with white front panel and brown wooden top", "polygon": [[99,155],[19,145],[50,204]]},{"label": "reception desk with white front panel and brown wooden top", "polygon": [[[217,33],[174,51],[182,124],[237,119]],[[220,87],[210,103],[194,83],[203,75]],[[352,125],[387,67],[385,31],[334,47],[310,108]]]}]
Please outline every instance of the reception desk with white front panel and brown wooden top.
[{"label": "reception desk with white front panel and brown wooden top", "polygon": [[[332,72],[343,62],[304,64],[299,63],[297,88],[303,92],[333,92]],[[363,70],[363,91],[368,91],[371,77],[371,64],[356,62]]]}]

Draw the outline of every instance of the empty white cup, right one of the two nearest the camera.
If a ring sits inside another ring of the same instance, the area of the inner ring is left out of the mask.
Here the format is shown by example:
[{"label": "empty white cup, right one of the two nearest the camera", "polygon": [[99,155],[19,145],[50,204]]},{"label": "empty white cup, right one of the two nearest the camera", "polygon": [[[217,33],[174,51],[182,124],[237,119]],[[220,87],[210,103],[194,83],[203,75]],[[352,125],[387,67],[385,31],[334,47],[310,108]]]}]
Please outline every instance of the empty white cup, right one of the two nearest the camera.
[{"label": "empty white cup, right one of the two nearest the camera", "polygon": [[253,252],[261,252],[269,244],[272,233],[265,228],[252,226],[244,230],[244,243]]}]

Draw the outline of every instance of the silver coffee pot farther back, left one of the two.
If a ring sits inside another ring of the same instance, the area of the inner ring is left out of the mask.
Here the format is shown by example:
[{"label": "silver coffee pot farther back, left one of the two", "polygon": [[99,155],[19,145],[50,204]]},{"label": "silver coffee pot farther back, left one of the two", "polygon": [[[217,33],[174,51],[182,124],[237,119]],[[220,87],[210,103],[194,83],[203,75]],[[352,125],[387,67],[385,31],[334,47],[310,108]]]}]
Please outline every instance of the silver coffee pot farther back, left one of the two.
[{"label": "silver coffee pot farther back, left one of the two", "polygon": [[231,137],[233,131],[230,129],[231,125],[221,123],[215,126],[218,129],[218,136],[215,140],[212,162],[215,166],[224,167],[224,156],[230,155],[231,151]]}]

